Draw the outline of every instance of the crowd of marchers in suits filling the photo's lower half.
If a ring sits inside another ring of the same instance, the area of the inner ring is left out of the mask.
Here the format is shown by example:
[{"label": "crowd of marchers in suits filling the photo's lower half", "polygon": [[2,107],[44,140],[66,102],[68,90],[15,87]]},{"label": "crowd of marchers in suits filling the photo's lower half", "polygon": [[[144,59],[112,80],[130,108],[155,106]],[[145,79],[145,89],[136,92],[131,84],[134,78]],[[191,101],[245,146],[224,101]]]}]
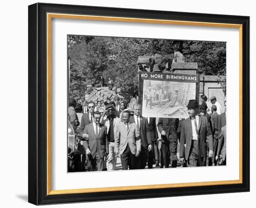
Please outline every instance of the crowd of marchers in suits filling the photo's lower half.
[{"label": "crowd of marchers in suits filling the photo's lower half", "polygon": [[180,119],[142,117],[136,97],[128,106],[119,97],[84,105],[69,98],[79,155],[69,170],[115,170],[118,157],[123,170],[226,165],[226,100],[223,110],[215,96],[200,103],[189,100],[188,118]]}]

